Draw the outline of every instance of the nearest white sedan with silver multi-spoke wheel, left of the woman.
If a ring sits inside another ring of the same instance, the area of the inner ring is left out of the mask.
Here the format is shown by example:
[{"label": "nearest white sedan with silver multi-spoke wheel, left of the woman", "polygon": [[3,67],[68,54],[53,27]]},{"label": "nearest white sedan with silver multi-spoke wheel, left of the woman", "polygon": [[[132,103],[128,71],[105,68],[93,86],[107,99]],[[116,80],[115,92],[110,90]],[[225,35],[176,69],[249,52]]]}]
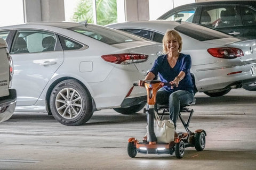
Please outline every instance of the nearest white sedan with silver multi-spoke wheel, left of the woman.
[{"label": "nearest white sedan with silver multi-spoke wheel, left of the woman", "polygon": [[48,112],[81,125],[94,111],[122,114],[145,106],[146,90],[133,88],[162,44],[100,25],[41,22],[0,28],[14,63],[15,112]]}]

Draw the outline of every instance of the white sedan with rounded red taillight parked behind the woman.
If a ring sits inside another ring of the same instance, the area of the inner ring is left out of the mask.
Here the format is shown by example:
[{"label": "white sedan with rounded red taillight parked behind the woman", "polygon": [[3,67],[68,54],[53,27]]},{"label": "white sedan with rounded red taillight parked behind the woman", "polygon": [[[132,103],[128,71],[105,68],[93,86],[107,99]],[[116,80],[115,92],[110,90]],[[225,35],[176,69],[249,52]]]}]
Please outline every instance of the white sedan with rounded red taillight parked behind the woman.
[{"label": "white sedan with rounded red taillight parked behind the woman", "polygon": [[216,97],[256,82],[256,40],[243,40],[189,22],[134,21],[108,27],[157,42],[162,42],[166,30],[178,31],[183,39],[182,53],[191,56],[195,91]]}]

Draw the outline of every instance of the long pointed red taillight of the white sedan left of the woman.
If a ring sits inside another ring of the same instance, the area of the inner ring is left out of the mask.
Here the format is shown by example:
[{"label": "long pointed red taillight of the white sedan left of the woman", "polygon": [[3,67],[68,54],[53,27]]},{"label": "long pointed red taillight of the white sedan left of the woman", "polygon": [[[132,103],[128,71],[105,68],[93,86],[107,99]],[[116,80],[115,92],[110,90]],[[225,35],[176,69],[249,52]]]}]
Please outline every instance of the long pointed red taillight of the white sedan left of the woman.
[{"label": "long pointed red taillight of the white sedan left of the woman", "polygon": [[106,62],[115,63],[115,64],[131,64],[131,63],[140,63],[146,61],[148,55],[143,54],[109,54],[102,55],[101,58]]}]

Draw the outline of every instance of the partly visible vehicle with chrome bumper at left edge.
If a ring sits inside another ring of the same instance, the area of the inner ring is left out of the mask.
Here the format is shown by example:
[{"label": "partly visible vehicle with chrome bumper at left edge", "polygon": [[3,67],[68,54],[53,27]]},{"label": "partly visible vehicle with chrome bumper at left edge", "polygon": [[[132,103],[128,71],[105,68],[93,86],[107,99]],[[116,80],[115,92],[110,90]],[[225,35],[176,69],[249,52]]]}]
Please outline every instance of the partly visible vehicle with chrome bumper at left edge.
[{"label": "partly visible vehicle with chrome bumper at left edge", "polygon": [[0,122],[9,120],[16,105],[16,91],[11,89],[13,75],[12,57],[7,44],[0,38]]}]

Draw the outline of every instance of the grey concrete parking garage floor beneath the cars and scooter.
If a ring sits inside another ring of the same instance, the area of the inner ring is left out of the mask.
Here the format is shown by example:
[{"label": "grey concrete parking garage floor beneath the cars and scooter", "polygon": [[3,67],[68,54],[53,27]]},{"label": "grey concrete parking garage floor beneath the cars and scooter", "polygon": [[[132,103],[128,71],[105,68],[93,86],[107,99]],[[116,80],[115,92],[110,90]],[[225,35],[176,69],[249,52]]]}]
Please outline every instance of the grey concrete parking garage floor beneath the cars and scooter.
[{"label": "grey concrete parking garage floor beneath the cars and scooter", "polygon": [[[204,151],[127,155],[127,140],[146,133],[146,115],[95,112],[83,126],[65,126],[43,113],[15,113],[0,124],[0,169],[256,169],[256,91],[196,94],[190,130],[207,133]],[[184,115],[186,118],[186,115]],[[178,131],[182,125],[178,122]]]}]

